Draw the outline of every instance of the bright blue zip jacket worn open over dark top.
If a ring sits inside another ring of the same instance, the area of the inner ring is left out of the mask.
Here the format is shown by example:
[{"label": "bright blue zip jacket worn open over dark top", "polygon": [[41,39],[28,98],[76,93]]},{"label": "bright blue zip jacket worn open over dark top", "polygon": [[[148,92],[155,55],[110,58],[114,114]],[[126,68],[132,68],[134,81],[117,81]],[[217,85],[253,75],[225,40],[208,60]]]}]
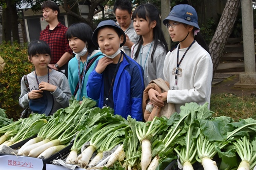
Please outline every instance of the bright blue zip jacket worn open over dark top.
[{"label": "bright blue zip jacket worn open over dark top", "polygon": [[[114,114],[124,118],[131,115],[137,121],[142,121],[143,69],[136,61],[123,52],[122,54],[123,61],[120,63],[113,86]],[[99,99],[99,108],[104,106],[103,74],[97,73],[95,69],[88,78],[87,95],[94,100]]]}]

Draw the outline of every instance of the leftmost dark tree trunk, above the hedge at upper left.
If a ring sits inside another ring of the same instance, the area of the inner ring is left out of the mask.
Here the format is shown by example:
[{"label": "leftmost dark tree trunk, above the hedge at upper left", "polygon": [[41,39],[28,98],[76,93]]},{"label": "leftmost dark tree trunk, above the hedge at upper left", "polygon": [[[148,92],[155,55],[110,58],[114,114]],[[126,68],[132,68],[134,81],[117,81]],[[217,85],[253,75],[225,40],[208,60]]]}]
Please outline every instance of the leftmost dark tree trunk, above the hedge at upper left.
[{"label": "leftmost dark tree trunk, above the hedge at upper left", "polygon": [[2,17],[2,22],[3,22],[3,41],[11,41],[11,8],[10,4],[11,1],[5,0],[5,3],[7,4],[6,8],[3,8],[3,17]]}]

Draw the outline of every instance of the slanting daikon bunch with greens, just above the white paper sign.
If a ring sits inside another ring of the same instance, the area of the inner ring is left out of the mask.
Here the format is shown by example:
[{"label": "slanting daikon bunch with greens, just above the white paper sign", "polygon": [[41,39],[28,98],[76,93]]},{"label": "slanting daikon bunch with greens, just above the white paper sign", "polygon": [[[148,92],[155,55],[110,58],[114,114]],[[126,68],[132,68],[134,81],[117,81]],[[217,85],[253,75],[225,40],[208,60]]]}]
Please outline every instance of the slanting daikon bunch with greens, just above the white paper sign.
[{"label": "slanting daikon bunch with greens, just above the white paper sign", "polygon": [[70,143],[77,131],[86,124],[88,109],[94,107],[95,101],[73,100],[69,107],[55,112],[48,123],[38,132],[37,137],[29,140],[18,151],[18,155],[49,158]]}]

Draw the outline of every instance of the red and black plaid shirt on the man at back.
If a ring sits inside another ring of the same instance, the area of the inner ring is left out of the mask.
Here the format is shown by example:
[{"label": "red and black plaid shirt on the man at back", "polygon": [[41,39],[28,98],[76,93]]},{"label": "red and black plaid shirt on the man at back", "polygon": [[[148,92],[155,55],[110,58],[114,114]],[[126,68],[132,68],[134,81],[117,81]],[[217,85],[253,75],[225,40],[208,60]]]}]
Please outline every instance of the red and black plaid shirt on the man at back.
[{"label": "red and black plaid shirt on the man at back", "polygon": [[47,42],[51,49],[51,64],[55,64],[65,52],[72,54],[66,39],[67,27],[58,23],[58,25],[50,32],[49,25],[40,32],[40,39]]}]

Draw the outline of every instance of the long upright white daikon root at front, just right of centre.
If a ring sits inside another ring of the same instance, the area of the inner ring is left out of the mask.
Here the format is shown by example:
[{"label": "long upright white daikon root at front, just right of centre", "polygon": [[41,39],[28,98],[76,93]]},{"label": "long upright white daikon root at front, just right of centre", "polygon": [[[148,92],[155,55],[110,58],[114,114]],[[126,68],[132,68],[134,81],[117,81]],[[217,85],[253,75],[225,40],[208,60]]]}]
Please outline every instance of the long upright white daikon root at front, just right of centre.
[{"label": "long upright white daikon root at front, just right of centre", "polygon": [[152,159],[151,143],[148,139],[142,140],[141,168],[146,170]]}]

